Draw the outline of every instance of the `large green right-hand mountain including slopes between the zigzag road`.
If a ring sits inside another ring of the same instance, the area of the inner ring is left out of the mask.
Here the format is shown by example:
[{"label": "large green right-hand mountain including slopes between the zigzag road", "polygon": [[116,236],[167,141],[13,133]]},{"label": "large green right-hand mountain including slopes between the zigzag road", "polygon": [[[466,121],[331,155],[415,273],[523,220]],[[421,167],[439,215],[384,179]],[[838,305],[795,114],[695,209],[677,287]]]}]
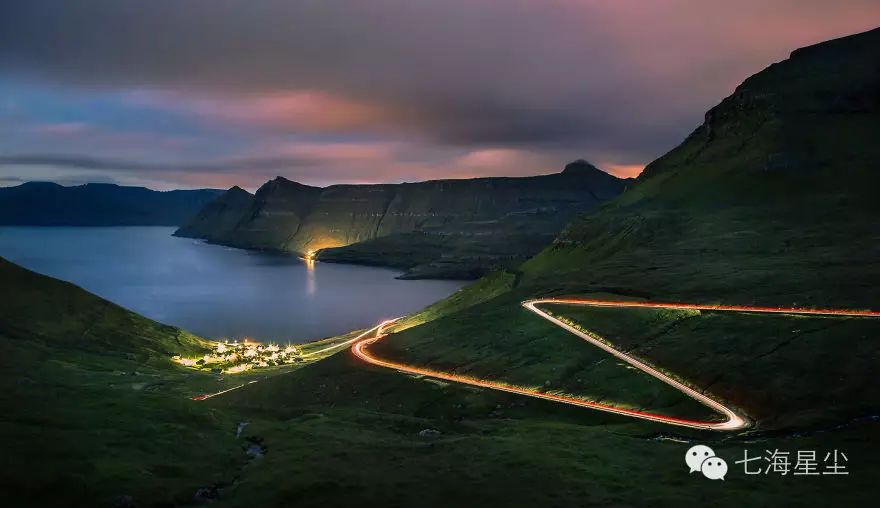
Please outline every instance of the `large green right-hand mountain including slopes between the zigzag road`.
[{"label": "large green right-hand mountain including slopes between the zigzag road", "polygon": [[[630,189],[573,220],[514,273],[410,317],[387,354],[466,365],[457,373],[481,379],[533,366],[564,392],[616,398],[634,393],[631,382],[603,376],[590,363],[598,359],[577,359],[587,355],[582,344],[548,351],[551,332],[519,308],[522,300],[877,310],[878,133],[880,29],[797,50],[748,78]],[[710,387],[754,418],[758,432],[848,425],[880,407],[877,319],[554,312]],[[640,404],[660,400],[649,393]]]}]

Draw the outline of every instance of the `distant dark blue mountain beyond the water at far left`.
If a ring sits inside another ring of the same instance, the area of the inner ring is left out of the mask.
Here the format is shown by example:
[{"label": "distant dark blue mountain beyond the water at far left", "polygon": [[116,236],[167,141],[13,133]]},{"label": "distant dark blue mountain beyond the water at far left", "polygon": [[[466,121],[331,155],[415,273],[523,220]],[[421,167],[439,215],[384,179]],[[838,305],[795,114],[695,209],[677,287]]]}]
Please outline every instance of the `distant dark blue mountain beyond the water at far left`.
[{"label": "distant dark blue mountain beyond the water at far left", "polygon": [[0,225],[179,226],[222,192],[28,182],[0,187]]}]

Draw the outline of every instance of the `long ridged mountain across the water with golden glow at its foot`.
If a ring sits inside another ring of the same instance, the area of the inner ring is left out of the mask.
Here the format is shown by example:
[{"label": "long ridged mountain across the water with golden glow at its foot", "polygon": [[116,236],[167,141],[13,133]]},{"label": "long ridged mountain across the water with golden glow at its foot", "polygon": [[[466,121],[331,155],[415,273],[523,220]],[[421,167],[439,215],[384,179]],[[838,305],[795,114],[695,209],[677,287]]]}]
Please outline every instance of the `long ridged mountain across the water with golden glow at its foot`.
[{"label": "long ridged mountain across the water with golden glow at its foot", "polygon": [[175,234],[396,266],[410,277],[472,278],[522,262],[627,183],[585,161],[522,178],[319,188],[278,177],[252,197],[230,189]]}]

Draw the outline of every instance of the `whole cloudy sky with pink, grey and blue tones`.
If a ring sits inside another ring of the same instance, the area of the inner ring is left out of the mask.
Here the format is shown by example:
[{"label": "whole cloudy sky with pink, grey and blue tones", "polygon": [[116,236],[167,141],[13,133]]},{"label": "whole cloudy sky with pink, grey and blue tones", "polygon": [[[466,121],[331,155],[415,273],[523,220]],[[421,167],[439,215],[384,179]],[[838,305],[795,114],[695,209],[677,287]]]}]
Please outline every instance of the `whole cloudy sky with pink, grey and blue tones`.
[{"label": "whole cloudy sky with pink, grey and blue tones", "polygon": [[877,0],[4,0],[0,185],[635,176]]}]

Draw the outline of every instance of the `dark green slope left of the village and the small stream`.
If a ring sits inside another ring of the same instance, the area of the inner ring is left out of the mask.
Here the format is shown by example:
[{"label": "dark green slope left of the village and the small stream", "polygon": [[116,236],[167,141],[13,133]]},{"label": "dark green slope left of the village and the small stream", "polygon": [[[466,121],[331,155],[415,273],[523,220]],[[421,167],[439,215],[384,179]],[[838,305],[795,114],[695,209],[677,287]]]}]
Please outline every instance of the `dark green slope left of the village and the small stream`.
[{"label": "dark green slope left of the village and the small stream", "polygon": [[0,259],[0,486],[7,506],[181,502],[236,473],[235,422],[169,362],[203,342]]}]

